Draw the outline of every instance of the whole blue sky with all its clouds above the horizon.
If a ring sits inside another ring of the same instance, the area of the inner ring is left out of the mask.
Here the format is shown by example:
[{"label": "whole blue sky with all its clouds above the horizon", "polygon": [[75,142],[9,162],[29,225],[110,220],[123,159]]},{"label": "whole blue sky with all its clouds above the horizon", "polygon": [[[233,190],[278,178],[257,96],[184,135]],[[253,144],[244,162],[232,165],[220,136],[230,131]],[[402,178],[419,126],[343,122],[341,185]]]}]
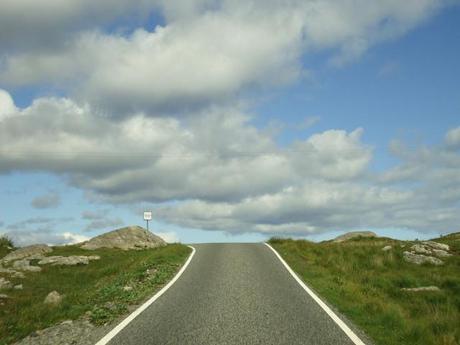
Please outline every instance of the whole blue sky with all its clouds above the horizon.
[{"label": "whole blue sky with all its clouds above the horizon", "polygon": [[0,234],[459,231],[459,5],[2,0]]}]

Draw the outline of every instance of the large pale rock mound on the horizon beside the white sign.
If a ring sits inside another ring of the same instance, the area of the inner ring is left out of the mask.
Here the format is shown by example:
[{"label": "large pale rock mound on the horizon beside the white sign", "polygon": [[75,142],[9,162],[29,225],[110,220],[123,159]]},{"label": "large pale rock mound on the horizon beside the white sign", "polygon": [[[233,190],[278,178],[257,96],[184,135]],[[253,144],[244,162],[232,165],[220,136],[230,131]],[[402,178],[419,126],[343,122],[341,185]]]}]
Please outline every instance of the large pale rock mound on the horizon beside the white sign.
[{"label": "large pale rock mound on the horizon beside the white sign", "polygon": [[166,242],[140,226],[130,226],[114,230],[90,239],[81,247],[84,249],[120,248],[146,249],[165,246]]}]

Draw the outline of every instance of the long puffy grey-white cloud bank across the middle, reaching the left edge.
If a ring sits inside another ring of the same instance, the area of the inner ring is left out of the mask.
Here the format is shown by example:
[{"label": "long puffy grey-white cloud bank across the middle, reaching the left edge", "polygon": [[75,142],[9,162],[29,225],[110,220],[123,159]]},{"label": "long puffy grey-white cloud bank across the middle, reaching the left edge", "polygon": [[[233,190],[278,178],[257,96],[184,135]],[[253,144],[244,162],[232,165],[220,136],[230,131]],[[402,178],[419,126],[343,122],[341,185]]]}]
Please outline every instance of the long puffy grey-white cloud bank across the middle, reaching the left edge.
[{"label": "long puffy grey-white cloud bank across the middle, reaching the left edge", "polygon": [[371,158],[362,129],[326,131],[280,149],[248,121],[237,109],[215,109],[186,125],[143,115],[118,122],[67,99],[39,99],[0,122],[1,169],[65,174],[113,202],[228,201],[307,177],[354,178]]}]

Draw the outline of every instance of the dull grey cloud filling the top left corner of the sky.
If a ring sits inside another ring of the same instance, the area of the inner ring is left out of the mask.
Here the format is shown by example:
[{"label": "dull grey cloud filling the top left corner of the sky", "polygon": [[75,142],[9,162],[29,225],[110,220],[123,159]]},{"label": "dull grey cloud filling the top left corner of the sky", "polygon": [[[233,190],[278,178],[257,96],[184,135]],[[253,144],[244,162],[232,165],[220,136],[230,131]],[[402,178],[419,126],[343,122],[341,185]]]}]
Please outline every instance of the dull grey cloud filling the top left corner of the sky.
[{"label": "dull grey cloud filling the top left corner of the sky", "polygon": [[155,6],[150,0],[2,0],[0,44],[9,51],[52,49],[64,45],[74,32],[120,17],[139,24]]}]

